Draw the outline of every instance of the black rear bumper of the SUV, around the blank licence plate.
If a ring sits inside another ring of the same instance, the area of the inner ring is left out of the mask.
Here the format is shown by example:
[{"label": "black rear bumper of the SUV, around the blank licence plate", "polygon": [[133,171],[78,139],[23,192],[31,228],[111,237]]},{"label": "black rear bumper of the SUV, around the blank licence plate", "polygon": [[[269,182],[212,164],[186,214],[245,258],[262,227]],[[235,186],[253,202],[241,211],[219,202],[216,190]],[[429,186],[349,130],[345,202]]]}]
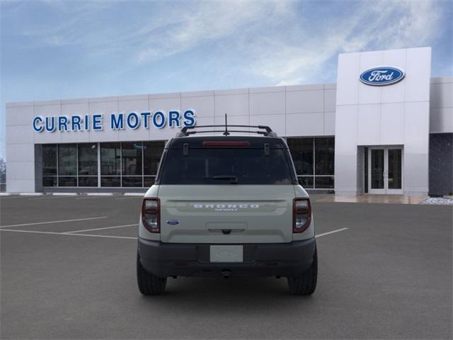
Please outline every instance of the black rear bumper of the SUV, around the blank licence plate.
[{"label": "black rear bumper of the SUV, around the blank licence plate", "polygon": [[210,262],[210,244],[168,244],[139,239],[145,270],[155,276],[300,276],[313,262],[314,238],[280,244],[243,244],[243,262]]}]

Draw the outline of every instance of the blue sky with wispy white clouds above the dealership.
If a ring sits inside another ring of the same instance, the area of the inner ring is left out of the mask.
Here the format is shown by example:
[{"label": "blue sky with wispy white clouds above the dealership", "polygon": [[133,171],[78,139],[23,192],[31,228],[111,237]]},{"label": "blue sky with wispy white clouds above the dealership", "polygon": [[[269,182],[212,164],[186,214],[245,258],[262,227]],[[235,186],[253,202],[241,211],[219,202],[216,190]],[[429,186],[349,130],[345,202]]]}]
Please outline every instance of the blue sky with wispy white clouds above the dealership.
[{"label": "blue sky with wispy white clouds above the dealership", "polygon": [[5,105],[336,82],[338,54],[432,47],[453,74],[453,0],[0,0]]}]

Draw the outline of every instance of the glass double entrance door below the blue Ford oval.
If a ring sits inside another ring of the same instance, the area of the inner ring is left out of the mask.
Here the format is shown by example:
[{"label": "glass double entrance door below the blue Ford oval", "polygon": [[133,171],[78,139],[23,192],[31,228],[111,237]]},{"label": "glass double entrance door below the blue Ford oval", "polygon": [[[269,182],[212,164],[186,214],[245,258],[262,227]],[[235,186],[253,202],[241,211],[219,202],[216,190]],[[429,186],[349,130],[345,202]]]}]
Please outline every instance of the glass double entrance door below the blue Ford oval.
[{"label": "glass double entrance door below the blue Ford oval", "polygon": [[370,147],[367,162],[369,193],[403,193],[401,147]]}]

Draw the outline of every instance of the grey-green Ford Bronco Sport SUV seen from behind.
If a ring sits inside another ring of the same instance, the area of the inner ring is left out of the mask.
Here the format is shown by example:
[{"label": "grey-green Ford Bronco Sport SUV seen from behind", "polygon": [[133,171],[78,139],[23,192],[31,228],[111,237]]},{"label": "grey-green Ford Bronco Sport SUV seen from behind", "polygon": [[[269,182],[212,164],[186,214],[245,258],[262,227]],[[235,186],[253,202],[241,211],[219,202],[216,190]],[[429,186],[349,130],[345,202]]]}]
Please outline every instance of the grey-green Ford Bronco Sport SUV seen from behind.
[{"label": "grey-green Ford Bronco Sport SUV seen from behind", "polygon": [[195,130],[215,127],[166,143],[139,219],[140,292],[164,293],[169,276],[286,276],[290,293],[314,293],[311,205],[285,140],[262,125]]}]

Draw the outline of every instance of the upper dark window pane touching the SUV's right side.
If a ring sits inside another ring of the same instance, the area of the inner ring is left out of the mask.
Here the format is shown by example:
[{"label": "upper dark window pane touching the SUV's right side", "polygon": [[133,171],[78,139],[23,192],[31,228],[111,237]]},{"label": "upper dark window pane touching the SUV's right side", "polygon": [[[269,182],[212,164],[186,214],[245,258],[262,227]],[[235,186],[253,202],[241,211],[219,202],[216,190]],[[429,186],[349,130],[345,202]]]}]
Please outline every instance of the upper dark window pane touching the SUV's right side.
[{"label": "upper dark window pane touching the SUV's right side", "polygon": [[288,138],[287,145],[298,175],[313,174],[313,138]]}]

